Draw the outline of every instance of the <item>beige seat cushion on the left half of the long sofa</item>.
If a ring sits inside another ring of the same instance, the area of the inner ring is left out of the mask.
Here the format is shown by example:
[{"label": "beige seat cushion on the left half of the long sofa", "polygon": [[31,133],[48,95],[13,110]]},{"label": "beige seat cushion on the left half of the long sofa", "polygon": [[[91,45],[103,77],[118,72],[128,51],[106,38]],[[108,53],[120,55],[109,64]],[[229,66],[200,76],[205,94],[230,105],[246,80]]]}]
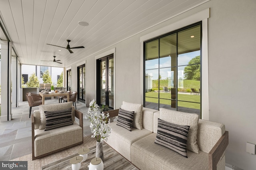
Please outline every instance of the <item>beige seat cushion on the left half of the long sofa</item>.
[{"label": "beige seat cushion on the left half of the long sofa", "polygon": [[106,143],[129,161],[131,161],[132,143],[152,134],[151,131],[144,128],[142,130],[132,128],[132,131],[128,131],[127,129],[116,125],[116,122],[110,123],[110,127],[112,128],[112,132],[110,133]]}]

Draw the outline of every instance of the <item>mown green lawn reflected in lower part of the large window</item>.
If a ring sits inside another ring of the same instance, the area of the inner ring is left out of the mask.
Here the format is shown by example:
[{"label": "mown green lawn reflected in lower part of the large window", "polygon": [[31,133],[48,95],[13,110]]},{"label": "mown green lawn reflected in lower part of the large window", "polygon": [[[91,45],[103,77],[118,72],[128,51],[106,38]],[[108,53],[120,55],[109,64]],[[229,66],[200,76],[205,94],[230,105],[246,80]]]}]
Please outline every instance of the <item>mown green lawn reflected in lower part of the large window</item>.
[{"label": "mown green lawn reflected in lower part of the large window", "polygon": [[[158,92],[148,92],[145,95],[146,102],[158,103]],[[159,95],[161,104],[171,105],[171,93],[159,93]],[[200,109],[200,95],[178,94],[178,106]]]}]

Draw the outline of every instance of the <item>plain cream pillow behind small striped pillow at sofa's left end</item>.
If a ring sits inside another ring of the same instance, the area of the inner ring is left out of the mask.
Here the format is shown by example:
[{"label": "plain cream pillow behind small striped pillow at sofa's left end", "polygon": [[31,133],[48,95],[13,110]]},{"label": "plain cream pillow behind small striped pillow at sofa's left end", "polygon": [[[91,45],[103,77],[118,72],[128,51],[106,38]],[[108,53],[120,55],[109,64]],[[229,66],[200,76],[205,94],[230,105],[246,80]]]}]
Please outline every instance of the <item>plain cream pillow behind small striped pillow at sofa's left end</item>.
[{"label": "plain cream pillow behind small striped pillow at sofa's left end", "polygon": [[126,111],[134,111],[132,127],[140,130],[142,129],[142,108],[141,104],[128,103],[125,101],[123,101],[123,105],[121,106],[121,109]]}]

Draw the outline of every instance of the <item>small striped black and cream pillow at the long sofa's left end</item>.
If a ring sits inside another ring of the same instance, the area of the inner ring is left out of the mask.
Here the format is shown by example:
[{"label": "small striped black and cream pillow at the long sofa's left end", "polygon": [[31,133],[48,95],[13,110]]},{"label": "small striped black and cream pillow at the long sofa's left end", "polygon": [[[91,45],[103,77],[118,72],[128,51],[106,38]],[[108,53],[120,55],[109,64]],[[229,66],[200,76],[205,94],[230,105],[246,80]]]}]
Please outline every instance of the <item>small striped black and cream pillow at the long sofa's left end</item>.
[{"label": "small striped black and cream pillow at the long sofa's left end", "polygon": [[126,111],[120,108],[118,111],[118,118],[117,118],[116,125],[132,131],[133,117],[134,117],[134,111]]}]

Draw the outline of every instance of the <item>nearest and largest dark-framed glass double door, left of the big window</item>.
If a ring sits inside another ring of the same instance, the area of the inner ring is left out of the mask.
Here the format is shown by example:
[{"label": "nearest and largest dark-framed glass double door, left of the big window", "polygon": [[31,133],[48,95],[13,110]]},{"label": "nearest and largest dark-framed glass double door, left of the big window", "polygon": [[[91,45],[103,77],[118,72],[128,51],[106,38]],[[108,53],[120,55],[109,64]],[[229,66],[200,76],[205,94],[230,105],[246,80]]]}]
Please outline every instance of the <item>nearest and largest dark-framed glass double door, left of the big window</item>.
[{"label": "nearest and largest dark-framed glass double door, left of the big window", "polygon": [[97,104],[114,109],[114,54],[97,60]]}]

